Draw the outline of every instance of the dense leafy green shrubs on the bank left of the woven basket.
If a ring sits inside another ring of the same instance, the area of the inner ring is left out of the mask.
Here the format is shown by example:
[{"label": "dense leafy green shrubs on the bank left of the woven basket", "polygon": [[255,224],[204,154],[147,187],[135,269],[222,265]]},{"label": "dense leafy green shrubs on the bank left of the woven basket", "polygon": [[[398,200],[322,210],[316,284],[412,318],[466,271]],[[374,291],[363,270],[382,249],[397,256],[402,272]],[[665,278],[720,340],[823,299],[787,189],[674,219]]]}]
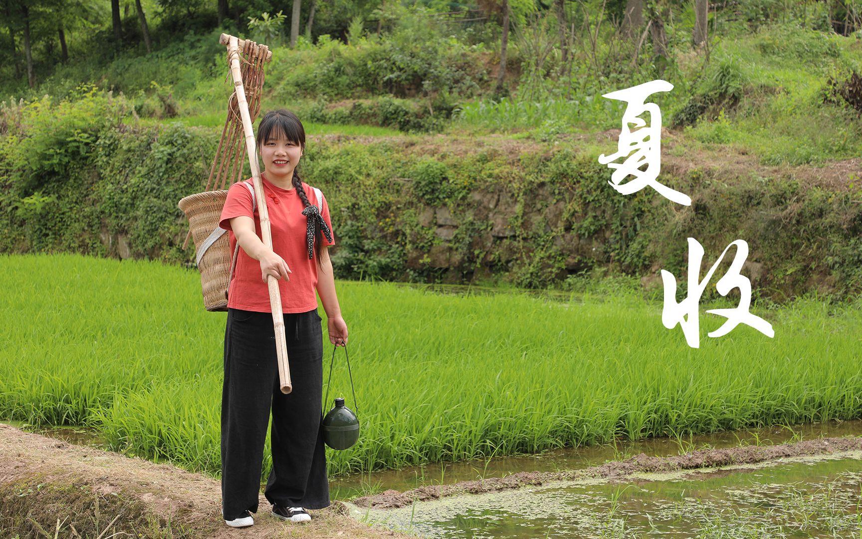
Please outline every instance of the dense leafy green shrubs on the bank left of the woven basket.
[{"label": "dense leafy green shrubs on the bank left of the woven basket", "polygon": [[187,258],[177,203],[203,191],[215,134],[181,123],[130,127],[129,110],[92,87],[56,106],[46,98],[3,109],[0,216],[15,231],[3,250],[108,254],[104,226],[128,237],[133,256]]}]

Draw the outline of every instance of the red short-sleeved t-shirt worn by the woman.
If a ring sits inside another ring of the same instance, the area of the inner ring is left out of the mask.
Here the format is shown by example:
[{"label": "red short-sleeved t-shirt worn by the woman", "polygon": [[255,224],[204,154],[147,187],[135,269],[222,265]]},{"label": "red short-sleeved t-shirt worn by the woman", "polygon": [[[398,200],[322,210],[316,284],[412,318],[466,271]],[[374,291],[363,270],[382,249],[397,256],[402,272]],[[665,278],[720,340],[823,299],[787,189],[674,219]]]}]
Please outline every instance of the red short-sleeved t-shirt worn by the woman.
[{"label": "red short-sleeved t-shirt worn by the woman", "polygon": [[[261,176],[266,196],[266,210],[270,217],[270,229],[272,231],[272,250],[284,259],[292,273],[290,281],[284,278],[278,279],[278,289],[281,291],[281,307],[284,313],[307,312],[317,308],[315,298],[315,286],[317,285],[317,254],[313,253],[309,259],[308,244],[306,243],[306,227],[308,219],[303,216],[305,204],[299,197],[296,189],[282,189],[272,185],[269,180]],[[249,180],[251,181],[251,180]],[[309,203],[320,208],[321,216],[330,230],[332,223],[329,221],[329,207],[326,197],[317,200],[315,190],[303,182],[303,190],[309,198]],[[249,216],[254,219],[254,230],[259,238],[260,216],[257,204],[252,212],[252,193],[248,191],[242,182],[237,182],[228,188],[228,200],[222,209],[219,226],[228,230],[228,241],[230,253],[234,254],[236,236],[230,228],[230,219],[236,216]],[[316,231],[315,231],[316,232]],[[334,234],[334,232],[333,232]],[[334,241],[328,241],[323,235],[323,246],[334,245]],[[315,242],[318,241],[315,234]],[[333,235],[333,240],[335,239]],[[269,288],[261,279],[260,262],[248,256],[241,248],[237,254],[234,277],[228,289],[228,307],[241,310],[255,310],[258,312],[272,312],[269,299]]]}]

